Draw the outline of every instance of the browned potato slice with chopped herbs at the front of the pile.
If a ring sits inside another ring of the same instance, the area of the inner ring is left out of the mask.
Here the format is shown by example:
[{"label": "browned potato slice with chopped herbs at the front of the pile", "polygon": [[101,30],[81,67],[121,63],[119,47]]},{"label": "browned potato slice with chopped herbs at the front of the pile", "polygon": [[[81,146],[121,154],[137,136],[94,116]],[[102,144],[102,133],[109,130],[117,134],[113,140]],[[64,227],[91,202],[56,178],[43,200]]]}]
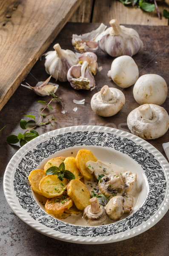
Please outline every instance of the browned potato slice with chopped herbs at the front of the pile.
[{"label": "browned potato slice with chopped herbs at the front of the pile", "polygon": [[55,198],[50,198],[46,201],[45,209],[46,212],[53,215],[62,215],[64,211],[68,210],[72,207],[73,202],[72,199],[69,198],[67,195],[62,195]]}]

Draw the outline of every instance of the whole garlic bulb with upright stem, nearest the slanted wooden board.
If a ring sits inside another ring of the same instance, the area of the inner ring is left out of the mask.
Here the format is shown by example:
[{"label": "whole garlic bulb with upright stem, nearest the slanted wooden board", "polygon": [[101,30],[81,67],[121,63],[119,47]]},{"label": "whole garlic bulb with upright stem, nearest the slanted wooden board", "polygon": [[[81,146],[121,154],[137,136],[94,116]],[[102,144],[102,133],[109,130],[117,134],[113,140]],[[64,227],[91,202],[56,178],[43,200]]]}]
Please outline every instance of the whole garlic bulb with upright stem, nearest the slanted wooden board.
[{"label": "whole garlic bulb with upright stem, nearest the slanted wooden board", "polygon": [[77,64],[79,60],[74,52],[61,49],[59,44],[55,44],[54,49],[55,51],[45,54],[45,69],[56,81],[65,82],[69,68]]}]

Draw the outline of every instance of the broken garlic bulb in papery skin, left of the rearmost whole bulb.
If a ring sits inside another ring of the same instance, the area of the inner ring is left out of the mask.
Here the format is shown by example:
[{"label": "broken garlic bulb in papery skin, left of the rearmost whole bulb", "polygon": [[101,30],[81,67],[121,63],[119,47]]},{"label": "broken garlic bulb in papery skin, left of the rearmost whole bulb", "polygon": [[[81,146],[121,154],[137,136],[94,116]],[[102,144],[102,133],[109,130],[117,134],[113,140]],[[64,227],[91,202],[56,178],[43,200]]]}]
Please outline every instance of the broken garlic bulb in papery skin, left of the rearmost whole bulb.
[{"label": "broken garlic bulb in papery skin, left of the rearmost whole bulb", "polygon": [[78,52],[96,52],[98,49],[97,36],[102,33],[107,26],[103,23],[96,30],[83,35],[72,35],[72,44],[74,49]]}]

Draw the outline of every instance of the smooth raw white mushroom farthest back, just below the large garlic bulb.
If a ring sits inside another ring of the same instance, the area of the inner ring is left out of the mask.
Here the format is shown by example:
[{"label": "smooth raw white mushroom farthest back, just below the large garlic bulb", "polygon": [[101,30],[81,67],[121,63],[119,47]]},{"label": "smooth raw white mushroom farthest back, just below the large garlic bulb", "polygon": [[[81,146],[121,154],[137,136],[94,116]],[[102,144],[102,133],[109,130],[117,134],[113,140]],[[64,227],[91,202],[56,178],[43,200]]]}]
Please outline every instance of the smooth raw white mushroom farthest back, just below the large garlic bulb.
[{"label": "smooth raw white mushroom farthest back, just below the large garlic bulb", "polygon": [[124,55],[112,62],[111,70],[108,72],[108,77],[121,88],[127,88],[138,79],[138,67],[132,57]]}]

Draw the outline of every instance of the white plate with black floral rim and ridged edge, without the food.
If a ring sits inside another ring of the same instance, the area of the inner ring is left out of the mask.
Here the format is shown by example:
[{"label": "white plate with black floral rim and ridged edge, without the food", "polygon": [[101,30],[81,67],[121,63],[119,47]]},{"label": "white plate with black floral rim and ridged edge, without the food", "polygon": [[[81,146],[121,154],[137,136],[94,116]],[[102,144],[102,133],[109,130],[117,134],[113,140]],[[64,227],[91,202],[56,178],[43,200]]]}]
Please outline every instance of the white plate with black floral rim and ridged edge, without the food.
[{"label": "white plate with black floral rim and ridged edge, without the food", "polygon": [[[99,160],[137,173],[140,193],[128,217],[97,227],[70,224],[47,214],[32,193],[27,183],[32,169],[43,168],[52,157],[75,156],[81,148],[91,150]],[[3,187],[14,213],[38,232],[73,243],[104,244],[137,236],[165,215],[169,164],[155,147],[133,134],[108,127],[74,126],[50,131],[20,148],[6,167]]]}]

